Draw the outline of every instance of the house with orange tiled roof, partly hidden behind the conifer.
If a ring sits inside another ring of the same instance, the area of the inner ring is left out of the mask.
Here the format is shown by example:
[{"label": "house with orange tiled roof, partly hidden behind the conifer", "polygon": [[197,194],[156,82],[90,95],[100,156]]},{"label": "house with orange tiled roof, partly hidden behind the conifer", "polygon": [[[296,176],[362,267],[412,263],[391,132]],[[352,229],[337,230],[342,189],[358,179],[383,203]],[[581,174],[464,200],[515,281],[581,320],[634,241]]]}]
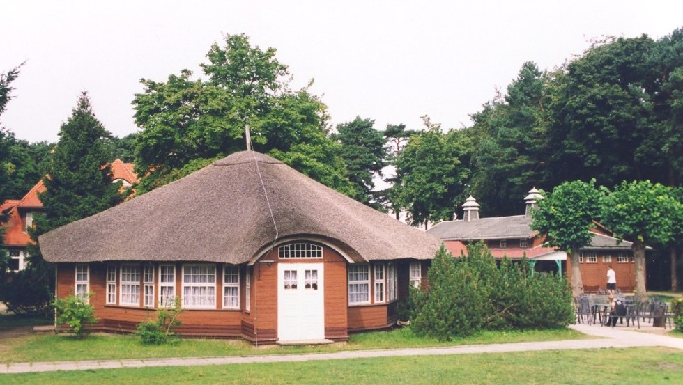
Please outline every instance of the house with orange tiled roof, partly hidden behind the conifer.
[{"label": "house with orange tiled roof, partly hidden behind the conifer", "polygon": [[[137,174],[133,172],[135,164],[124,163],[116,159],[111,164],[113,182],[121,181],[122,187],[130,187],[137,182]],[[33,226],[33,214],[43,211],[43,203],[38,194],[45,191],[43,180],[33,185],[23,198],[17,200],[8,199],[0,207],[0,211],[8,215],[3,226],[6,227],[3,242],[10,254],[11,271],[23,270],[26,257],[29,256],[26,246],[31,243],[28,229]]]}]

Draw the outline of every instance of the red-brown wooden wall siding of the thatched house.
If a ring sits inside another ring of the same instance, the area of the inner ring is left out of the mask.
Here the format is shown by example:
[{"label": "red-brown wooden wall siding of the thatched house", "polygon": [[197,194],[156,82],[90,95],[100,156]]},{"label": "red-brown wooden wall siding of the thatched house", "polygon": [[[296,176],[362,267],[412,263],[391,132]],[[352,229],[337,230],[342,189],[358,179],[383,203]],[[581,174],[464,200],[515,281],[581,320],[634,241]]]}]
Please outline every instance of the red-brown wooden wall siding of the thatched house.
[{"label": "red-brown wooden wall siding of the thatched house", "polygon": [[[272,261],[272,262],[269,262]],[[383,329],[390,327],[397,320],[397,301],[388,304],[374,304],[374,274],[370,269],[370,299],[367,306],[348,306],[347,269],[348,263],[337,251],[323,246],[322,260],[315,259],[286,259],[277,258],[277,249],[261,257],[252,267],[240,266],[240,310],[222,310],[222,274],[223,265],[215,264],[217,309],[187,309],[180,316],[182,326],[178,332],[184,336],[215,336],[220,338],[245,338],[254,343],[268,344],[277,341],[277,263],[309,263],[321,261],[324,263],[325,274],[325,338],[332,340],[346,340],[349,331]],[[430,261],[421,261],[422,287],[427,285],[427,268]],[[119,290],[121,290],[121,265],[133,264],[141,267],[143,262],[112,262],[116,265],[116,304],[106,304],[106,273],[107,263],[90,263],[90,290],[95,294],[91,304],[95,307],[97,324],[92,329],[105,331],[135,331],[137,324],[149,318],[155,318],[154,308],[118,306]],[[408,295],[410,260],[395,261],[397,265],[397,292],[399,299]],[[194,264],[194,262],[187,262]],[[174,265],[176,267],[176,295],[182,292],[183,262],[155,262],[155,305],[159,296],[159,265]],[[214,265],[214,264],[210,264]],[[57,265],[57,295],[67,297],[74,294],[75,264],[59,263]],[[370,267],[373,264],[369,264]],[[245,309],[245,274],[251,275],[251,304],[250,311]],[[142,274],[141,274],[142,275]],[[144,285],[141,283],[141,288]],[[385,294],[388,283],[385,285]],[[144,301],[141,293],[140,301]],[[256,332],[254,332],[256,330]]]}]

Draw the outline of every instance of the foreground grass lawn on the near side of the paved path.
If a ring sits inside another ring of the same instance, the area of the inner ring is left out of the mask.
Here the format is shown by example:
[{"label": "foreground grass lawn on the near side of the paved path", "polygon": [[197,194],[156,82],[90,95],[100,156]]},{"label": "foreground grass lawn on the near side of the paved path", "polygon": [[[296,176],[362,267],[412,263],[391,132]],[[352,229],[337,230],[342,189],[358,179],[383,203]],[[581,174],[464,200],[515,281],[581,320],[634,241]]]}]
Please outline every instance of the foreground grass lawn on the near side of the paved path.
[{"label": "foreground grass lawn on the near side of the paved path", "polygon": [[0,375],[14,384],[677,384],[677,349],[591,349]]}]

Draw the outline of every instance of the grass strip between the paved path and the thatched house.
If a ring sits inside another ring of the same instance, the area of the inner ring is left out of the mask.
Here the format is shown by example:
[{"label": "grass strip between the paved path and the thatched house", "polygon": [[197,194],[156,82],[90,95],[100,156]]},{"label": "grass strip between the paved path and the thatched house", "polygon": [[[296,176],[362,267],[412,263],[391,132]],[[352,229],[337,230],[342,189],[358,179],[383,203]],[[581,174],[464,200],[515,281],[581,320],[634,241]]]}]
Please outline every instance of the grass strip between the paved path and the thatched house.
[{"label": "grass strip between the paved path and the thatched house", "polygon": [[571,329],[484,332],[470,338],[439,342],[415,336],[410,329],[378,331],[351,336],[346,345],[316,347],[270,347],[256,349],[250,343],[227,340],[182,340],[177,346],[141,345],[137,336],[98,333],[86,340],[67,334],[31,334],[5,338],[0,344],[0,363],[74,361],[84,359],[135,359],[158,357],[247,356],[255,354],[295,354],[359,349],[398,349],[527,341],[590,338]]}]

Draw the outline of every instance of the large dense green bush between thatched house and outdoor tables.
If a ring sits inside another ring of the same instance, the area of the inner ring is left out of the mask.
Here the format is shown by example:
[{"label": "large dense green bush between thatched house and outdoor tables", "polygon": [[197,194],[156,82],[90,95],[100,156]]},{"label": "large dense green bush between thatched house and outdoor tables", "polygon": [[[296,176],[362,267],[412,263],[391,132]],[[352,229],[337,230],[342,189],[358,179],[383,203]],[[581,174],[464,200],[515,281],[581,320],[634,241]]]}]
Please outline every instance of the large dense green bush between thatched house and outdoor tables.
[{"label": "large dense green bush between thatched house and outdoor tables", "polygon": [[415,333],[440,340],[482,329],[548,329],[574,322],[571,290],[555,274],[531,275],[528,260],[496,263],[482,242],[453,259],[442,246],[415,308]]}]

